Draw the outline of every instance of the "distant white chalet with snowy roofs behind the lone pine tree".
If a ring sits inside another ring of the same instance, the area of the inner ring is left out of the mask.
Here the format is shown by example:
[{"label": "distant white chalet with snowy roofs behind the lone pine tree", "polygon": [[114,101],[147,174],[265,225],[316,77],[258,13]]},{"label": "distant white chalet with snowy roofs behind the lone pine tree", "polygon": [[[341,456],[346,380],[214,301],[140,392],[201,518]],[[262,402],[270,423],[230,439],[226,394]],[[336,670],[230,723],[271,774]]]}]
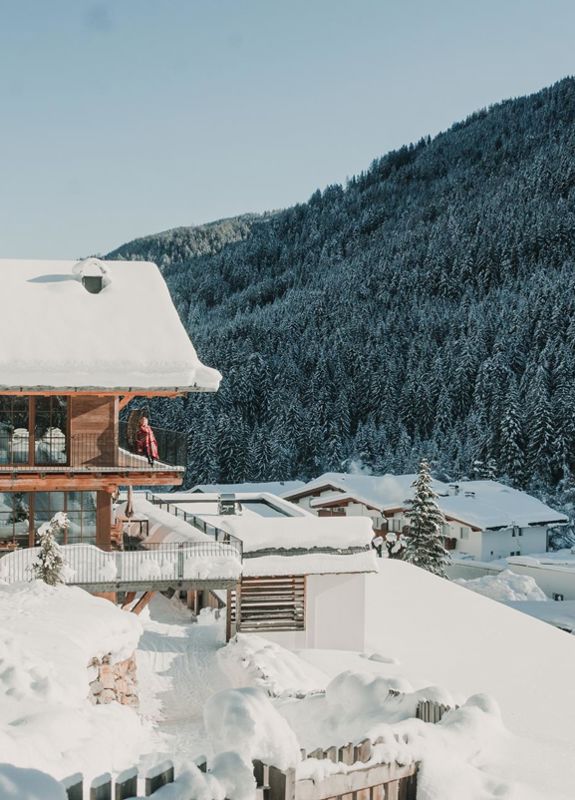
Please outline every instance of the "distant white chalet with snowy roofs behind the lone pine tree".
[{"label": "distant white chalet with snowy roofs behind the lone pine tree", "polygon": [[[326,473],[283,495],[318,516],[365,516],[376,532],[401,533],[416,475]],[[547,550],[549,529],[567,517],[496,481],[433,481],[445,515],[444,542],[454,555],[491,561]]]}]

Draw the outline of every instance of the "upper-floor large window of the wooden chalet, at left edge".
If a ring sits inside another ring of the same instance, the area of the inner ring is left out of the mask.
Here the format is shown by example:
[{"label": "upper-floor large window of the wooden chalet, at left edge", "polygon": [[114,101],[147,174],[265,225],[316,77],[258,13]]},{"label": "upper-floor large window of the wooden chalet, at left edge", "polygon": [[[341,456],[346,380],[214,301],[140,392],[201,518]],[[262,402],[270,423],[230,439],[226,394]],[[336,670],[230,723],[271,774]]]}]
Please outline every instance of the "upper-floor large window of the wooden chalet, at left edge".
[{"label": "upper-floor large window of the wooden chalet, at left edge", "polygon": [[67,400],[0,395],[0,464],[65,464]]}]

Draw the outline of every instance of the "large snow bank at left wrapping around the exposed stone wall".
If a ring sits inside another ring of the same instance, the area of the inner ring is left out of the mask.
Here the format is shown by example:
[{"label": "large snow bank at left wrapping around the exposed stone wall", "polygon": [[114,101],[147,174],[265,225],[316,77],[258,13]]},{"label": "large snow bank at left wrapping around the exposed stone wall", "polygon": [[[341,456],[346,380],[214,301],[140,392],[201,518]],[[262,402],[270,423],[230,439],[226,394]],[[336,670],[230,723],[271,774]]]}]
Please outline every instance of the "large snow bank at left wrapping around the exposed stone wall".
[{"label": "large snow bank at left wrapping around the exposed stone wall", "polygon": [[0,585],[0,753],[56,777],[123,769],[154,746],[131,709],[93,706],[90,660],[135,650],[139,619],[81,589]]}]

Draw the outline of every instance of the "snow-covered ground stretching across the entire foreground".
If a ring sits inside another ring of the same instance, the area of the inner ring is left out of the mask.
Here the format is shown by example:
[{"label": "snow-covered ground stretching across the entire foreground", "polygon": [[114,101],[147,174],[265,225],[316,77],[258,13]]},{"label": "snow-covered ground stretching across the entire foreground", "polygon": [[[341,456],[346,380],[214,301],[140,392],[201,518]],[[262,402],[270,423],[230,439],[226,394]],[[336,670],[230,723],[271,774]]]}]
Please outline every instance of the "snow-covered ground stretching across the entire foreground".
[{"label": "snow-covered ground stretching across the entire foreground", "polygon": [[[2,760],[62,776],[165,755],[182,776],[182,797],[248,800],[253,757],[287,765],[300,746],[379,736],[378,758],[423,759],[418,800],[572,800],[575,639],[403,562],[379,566],[366,576],[363,653],[293,653],[251,635],[226,646],[213,612],[193,622],[163,596],[138,621],[80,590],[34,585],[17,596],[1,587],[0,618],[13,620],[2,623]],[[77,602],[62,615],[70,592]],[[86,626],[89,613],[95,623]],[[75,674],[86,654],[129,649],[140,624],[140,716],[90,706]],[[64,644],[74,655],[60,678],[50,664]],[[414,719],[419,698],[461,708],[430,725]],[[193,763],[202,755],[207,777]]]}]

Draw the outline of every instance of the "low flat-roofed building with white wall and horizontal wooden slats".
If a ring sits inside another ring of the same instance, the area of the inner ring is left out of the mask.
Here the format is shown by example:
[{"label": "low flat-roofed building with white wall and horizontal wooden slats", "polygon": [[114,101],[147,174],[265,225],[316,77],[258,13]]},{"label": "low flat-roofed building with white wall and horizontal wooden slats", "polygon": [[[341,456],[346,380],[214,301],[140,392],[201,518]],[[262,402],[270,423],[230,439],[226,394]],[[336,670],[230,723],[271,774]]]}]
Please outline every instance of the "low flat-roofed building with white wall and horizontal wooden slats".
[{"label": "low flat-roofed building with white wall and horizontal wooden slats", "polygon": [[[263,633],[287,647],[364,647],[365,577],[377,571],[368,520],[318,519],[267,492],[236,495],[197,492],[137,496],[139,514],[157,520],[168,512],[193,532],[218,542],[240,541],[241,580],[221,596],[228,635]],[[181,526],[152,525],[149,540],[183,542]]]}]

